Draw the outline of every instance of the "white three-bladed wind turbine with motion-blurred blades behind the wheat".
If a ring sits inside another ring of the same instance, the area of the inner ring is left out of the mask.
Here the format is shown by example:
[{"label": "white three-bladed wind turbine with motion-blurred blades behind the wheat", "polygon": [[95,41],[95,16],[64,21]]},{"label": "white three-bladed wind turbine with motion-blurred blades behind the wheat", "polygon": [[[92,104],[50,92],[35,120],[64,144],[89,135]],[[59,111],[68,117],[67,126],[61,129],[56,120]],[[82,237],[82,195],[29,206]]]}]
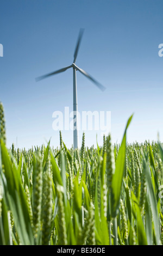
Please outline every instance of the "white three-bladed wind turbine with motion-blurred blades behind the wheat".
[{"label": "white three-bladed wind turbine with motion-blurred blades behind the wheat", "polygon": [[42,80],[44,78],[47,78],[49,76],[52,76],[52,75],[64,72],[67,69],[73,68],[73,148],[74,149],[78,148],[78,102],[77,102],[77,77],[76,77],[76,71],[78,70],[84,76],[89,78],[93,83],[96,84],[96,86],[99,89],[101,89],[101,90],[105,89],[105,87],[102,86],[102,84],[97,82],[92,76],[87,74],[87,72],[85,72],[83,69],[80,69],[76,65],[76,59],[77,59],[77,55],[78,55],[78,51],[79,51],[80,42],[82,40],[83,32],[84,32],[84,29],[81,28],[80,32],[79,32],[79,37],[78,37],[77,45],[76,45],[76,48],[75,48],[75,51],[74,51],[73,63],[70,66],[66,66],[65,68],[59,69],[59,70],[51,72],[51,73],[49,73],[47,75],[43,75],[43,76],[40,76],[40,77],[36,78],[36,81],[40,81],[40,80]]}]

